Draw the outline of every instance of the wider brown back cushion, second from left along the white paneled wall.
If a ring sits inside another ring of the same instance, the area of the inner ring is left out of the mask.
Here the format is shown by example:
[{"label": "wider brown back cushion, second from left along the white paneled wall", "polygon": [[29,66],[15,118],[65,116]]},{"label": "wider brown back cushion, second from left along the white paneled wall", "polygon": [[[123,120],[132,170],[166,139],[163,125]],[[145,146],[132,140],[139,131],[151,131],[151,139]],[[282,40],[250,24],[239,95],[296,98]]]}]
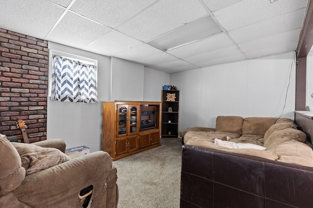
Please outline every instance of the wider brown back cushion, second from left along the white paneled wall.
[{"label": "wider brown back cushion, second from left along the white paneled wall", "polygon": [[275,124],[278,118],[248,117],[243,122],[242,134],[264,135],[269,127]]}]

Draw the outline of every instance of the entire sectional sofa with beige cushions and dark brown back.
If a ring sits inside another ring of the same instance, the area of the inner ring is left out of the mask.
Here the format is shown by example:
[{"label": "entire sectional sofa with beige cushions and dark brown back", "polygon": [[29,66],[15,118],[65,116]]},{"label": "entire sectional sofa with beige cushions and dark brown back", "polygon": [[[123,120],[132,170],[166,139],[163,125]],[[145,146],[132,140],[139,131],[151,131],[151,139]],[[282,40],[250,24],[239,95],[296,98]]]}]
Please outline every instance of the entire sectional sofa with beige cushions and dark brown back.
[{"label": "entire sectional sofa with beige cushions and dark brown back", "polygon": [[313,151],[290,119],[218,116],[198,130],[181,132],[180,208],[312,207]]}]

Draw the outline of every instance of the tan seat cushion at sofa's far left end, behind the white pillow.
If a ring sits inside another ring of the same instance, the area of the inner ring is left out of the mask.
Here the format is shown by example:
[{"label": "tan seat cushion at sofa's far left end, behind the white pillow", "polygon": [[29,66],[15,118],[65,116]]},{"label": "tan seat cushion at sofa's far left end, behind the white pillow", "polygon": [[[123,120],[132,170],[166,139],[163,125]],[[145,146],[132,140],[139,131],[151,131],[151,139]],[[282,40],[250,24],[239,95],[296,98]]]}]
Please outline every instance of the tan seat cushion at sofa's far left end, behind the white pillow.
[{"label": "tan seat cushion at sofa's far left end, behind the white pillow", "polygon": [[210,142],[214,142],[214,139],[216,138],[226,140],[227,136],[231,138],[239,138],[240,134],[234,132],[187,132],[184,136],[184,143],[187,144],[188,140],[194,136]]}]

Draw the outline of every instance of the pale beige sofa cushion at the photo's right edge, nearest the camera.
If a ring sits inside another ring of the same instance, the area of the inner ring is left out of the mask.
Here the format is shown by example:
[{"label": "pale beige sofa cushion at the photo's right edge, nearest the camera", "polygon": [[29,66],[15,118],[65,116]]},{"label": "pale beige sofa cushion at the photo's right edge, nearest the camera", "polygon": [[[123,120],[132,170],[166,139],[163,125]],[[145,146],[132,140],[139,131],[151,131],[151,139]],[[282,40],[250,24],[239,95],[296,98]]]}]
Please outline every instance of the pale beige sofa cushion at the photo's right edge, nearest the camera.
[{"label": "pale beige sofa cushion at the photo's right edge, nearest the camera", "polygon": [[278,156],[277,161],[313,167],[313,151],[309,145],[290,138],[278,138],[267,149]]}]

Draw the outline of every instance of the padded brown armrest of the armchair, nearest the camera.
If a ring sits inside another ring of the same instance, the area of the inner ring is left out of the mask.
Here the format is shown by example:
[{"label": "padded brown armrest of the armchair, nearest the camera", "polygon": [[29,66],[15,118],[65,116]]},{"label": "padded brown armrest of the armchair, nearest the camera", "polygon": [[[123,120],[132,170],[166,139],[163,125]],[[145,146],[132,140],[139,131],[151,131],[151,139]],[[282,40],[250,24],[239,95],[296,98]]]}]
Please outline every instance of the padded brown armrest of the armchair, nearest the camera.
[{"label": "padded brown armrest of the armchair, nearest the camera", "polygon": [[97,151],[27,175],[13,193],[29,206],[53,204],[73,194],[78,197],[79,191],[91,184],[94,193],[105,194],[106,178],[111,170],[110,155]]}]

